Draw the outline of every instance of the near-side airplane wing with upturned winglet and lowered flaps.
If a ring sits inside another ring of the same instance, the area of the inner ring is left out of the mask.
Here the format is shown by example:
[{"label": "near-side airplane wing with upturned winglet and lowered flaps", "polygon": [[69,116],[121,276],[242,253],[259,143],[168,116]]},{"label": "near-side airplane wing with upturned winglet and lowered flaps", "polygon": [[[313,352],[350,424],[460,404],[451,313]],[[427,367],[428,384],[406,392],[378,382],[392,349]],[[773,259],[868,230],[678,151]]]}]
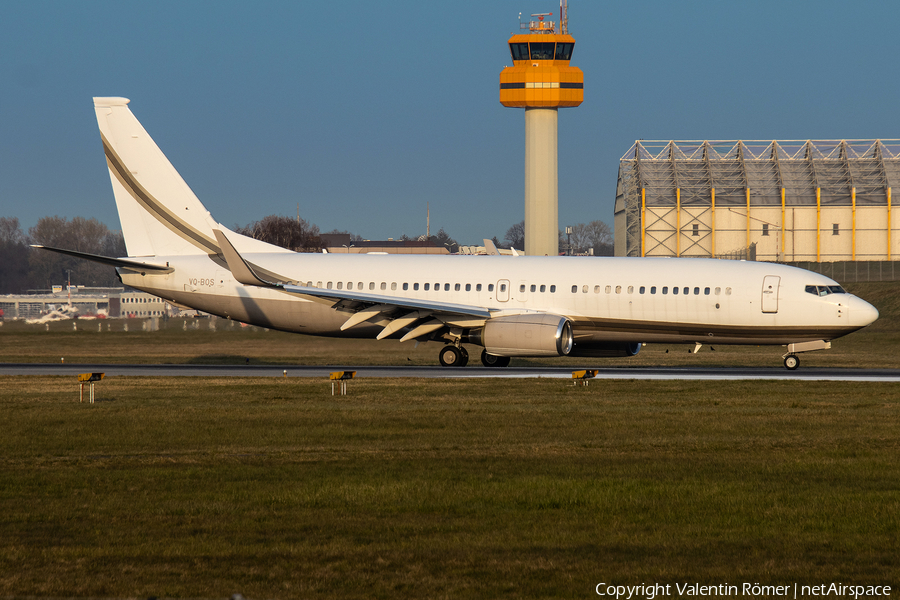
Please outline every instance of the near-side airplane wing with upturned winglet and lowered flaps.
[{"label": "near-side airplane wing with upturned winglet and lowered flaps", "polygon": [[[242,257],[219,229],[214,230],[222,255],[234,278],[244,285],[269,287],[288,294],[297,294],[324,301],[333,301],[332,308],[349,313],[341,330],[363,322],[384,327],[377,338],[382,339],[403,328],[411,328],[400,341],[433,334],[445,327],[477,327],[491,318],[491,311],[481,306],[434,302],[387,294],[366,293],[363,290],[335,290],[271,281],[263,270]],[[273,275],[273,274],[267,274]]]}]

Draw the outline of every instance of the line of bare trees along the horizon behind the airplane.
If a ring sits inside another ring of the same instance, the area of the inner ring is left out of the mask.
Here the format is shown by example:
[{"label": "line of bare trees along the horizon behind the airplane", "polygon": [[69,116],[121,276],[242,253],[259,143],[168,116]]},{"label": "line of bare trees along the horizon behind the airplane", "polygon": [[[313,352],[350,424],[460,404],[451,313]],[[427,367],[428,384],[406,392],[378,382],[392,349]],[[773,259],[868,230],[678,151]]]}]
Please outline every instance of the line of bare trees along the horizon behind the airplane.
[{"label": "line of bare trees along the horizon behind the airplane", "polygon": [[[297,252],[319,252],[323,247],[322,233],[318,226],[305,219],[269,215],[234,230],[276,246]],[[348,231],[333,230],[329,234],[349,234],[352,241],[362,237]],[[401,240],[422,240],[425,236]],[[568,236],[571,249],[585,253],[593,248],[595,256],[612,256],[613,237],[603,221],[592,221],[573,227]],[[459,244],[443,228],[427,238],[436,246],[446,246],[456,252]],[[525,248],[525,222],[516,223],[507,231],[503,241],[493,238],[498,248]],[[71,256],[36,250],[31,244],[65,248],[89,254],[122,257],[127,255],[125,239],[121,231],[112,231],[97,219],[74,217],[42,217],[28,232],[24,232],[16,217],[0,217],[0,294],[23,294],[31,290],[49,290],[54,285],[88,287],[116,287],[121,285],[115,269]],[[560,232],[560,248],[567,246],[567,237]]]}]

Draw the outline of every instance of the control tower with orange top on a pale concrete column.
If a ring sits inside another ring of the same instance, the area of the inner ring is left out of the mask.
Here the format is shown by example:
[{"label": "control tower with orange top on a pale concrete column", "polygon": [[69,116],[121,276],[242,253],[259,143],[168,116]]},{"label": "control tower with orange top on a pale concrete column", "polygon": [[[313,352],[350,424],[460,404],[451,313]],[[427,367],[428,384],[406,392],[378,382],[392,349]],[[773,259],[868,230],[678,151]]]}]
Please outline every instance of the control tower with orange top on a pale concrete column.
[{"label": "control tower with orange top on a pale concrete column", "polygon": [[[557,119],[560,108],[584,100],[584,73],[570,67],[575,38],[569,35],[566,2],[559,31],[552,13],[531,15],[527,34],[509,39],[513,66],[500,73],[500,104],[525,109],[525,254],[559,254]],[[526,25],[522,23],[521,29]]]}]

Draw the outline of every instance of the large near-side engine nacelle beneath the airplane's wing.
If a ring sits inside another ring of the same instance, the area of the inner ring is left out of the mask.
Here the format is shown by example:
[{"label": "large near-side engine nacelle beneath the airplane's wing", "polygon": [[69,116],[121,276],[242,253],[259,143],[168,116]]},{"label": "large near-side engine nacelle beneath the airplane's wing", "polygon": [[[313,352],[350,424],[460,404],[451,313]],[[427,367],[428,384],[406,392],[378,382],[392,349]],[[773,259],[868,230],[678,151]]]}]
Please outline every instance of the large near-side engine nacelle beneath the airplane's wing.
[{"label": "large near-side engine nacelle beneath the airplane's wing", "polygon": [[491,319],[468,332],[468,341],[496,356],[567,356],[572,324],[565,317],[527,313]]}]

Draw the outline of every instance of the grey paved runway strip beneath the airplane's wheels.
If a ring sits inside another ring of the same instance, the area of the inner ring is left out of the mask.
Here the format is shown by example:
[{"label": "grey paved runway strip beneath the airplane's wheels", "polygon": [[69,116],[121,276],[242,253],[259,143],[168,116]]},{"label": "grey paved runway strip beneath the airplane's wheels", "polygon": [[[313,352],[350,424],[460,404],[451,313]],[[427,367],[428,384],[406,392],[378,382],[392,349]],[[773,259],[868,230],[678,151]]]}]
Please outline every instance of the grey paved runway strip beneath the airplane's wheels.
[{"label": "grey paved runway strip beneath the airplane's wheels", "polygon": [[[530,378],[571,379],[571,368],[483,367],[382,367],[382,366],[290,366],[290,365],[125,365],[125,364],[49,364],[0,363],[0,375],[60,375],[105,373],[107,377],[305,377],[328,379],[333,371],[356,371],[357,378]],[[781,367],[618,367],[597,370],[596,379],[642,380],[760,380],[785,381],[857,381],[900,382],[900,369],[800,368]]]}]

